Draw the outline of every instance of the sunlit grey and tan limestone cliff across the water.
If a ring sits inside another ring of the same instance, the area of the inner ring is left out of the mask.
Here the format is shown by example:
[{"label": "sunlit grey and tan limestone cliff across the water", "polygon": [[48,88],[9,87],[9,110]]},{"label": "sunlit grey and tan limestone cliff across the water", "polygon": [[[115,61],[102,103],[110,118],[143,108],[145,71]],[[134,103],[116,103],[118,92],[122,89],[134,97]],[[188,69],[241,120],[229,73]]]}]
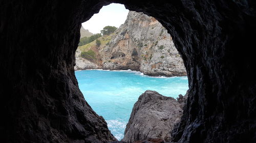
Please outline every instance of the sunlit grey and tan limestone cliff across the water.
[{"label": "sunlit grey and tan limestone cliff across the water", "polygon": [[98,55],[94,63],[101,69],[132,69],[153,76],[186,75],[172,37],[153,17],[130,11],[124,24],[115,33],[99,40],[103,40],[99,47],[89,43],[90,46],[84,45],[78,49],[94,49]]}]

